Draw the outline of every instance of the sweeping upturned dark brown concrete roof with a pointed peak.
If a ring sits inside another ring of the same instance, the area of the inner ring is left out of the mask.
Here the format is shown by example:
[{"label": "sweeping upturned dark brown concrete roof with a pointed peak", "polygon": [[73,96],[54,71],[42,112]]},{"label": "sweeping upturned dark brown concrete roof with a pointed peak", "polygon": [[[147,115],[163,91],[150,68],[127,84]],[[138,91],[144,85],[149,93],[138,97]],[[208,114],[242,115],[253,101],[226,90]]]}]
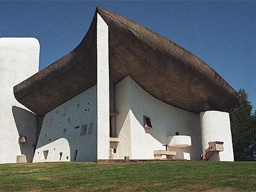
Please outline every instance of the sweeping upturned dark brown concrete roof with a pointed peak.
[{"label": "sweeping upturned dark brown concrete roof with a pointed peak", "polygon": [[121,15],[97,7],[82,42],[66,56],[14,87],[17,101],[42,116],[96,84],[96,13],[109,27],[109,74],[114,83],[131,75],[163,102],[202,112],[226,111],[236,91],[211,67],[181,46]]}]

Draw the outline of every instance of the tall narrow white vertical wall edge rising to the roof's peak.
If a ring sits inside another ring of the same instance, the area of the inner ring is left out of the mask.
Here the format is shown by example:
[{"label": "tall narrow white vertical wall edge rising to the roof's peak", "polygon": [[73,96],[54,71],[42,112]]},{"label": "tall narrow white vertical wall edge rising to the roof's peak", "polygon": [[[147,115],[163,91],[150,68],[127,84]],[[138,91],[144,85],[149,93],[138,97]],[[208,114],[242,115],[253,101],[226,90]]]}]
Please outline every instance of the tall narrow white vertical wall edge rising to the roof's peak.
[{"label": "tall narrow white vertical wall edge rising to the roof's peak", "polygon": [[109,159],[108,25],[97,14],[97,159]]}]

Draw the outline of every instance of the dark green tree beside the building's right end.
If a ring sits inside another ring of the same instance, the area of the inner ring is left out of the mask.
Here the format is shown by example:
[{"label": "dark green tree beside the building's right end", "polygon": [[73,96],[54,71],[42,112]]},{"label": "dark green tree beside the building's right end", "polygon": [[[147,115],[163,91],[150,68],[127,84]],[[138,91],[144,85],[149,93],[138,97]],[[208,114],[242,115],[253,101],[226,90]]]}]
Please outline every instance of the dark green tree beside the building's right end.
[{"label": "dark green tree beside the building's right end", "polygon": [[256,115],[245,90],[240,89],[239,103],[229,111],[235,161],[256,160]]}]

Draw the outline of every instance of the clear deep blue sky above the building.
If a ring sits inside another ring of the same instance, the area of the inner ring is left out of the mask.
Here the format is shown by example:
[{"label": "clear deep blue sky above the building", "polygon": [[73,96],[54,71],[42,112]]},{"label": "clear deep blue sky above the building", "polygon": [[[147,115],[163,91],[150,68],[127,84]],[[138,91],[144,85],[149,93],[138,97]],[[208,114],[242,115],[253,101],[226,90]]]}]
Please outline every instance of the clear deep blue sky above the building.
[{"label": "clear deep blue sky above the building", "polygon": [[0,37],[36,37],[43,69],[80,43],[96,6],[200,57],[256,109],[256,1],[0,1]]}]

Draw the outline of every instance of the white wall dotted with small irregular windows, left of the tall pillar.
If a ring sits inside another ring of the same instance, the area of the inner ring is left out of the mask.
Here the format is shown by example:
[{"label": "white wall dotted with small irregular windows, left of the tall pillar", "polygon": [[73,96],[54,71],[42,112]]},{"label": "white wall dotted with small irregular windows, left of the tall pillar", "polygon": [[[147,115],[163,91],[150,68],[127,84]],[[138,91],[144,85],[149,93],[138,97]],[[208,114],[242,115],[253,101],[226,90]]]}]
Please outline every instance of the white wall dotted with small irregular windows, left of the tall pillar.
[{"label": "white wall dotted with small irregular windows, left of the tall pillar", "polygon": [[[87,127],[85,135],[82,125]],[[75,150],[76,161],[96,161],[96,85],[45,115],[33,162],[74,161]]]}]

